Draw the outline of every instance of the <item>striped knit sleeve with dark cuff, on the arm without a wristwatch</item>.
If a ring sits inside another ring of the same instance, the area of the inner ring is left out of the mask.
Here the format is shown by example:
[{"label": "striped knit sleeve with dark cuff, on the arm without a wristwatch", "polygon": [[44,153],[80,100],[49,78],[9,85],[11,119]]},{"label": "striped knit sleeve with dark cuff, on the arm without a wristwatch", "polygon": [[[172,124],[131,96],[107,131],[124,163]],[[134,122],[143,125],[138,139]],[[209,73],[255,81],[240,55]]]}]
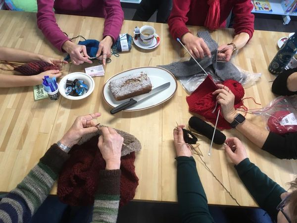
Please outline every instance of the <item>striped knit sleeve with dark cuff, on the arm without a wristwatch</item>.
[{"label": "striped knit sleeve with dark cuff, on the arm without a wristwatch", "polygon": [[92,223],[116,223],[120,201],[121,170],[100,170]]}]

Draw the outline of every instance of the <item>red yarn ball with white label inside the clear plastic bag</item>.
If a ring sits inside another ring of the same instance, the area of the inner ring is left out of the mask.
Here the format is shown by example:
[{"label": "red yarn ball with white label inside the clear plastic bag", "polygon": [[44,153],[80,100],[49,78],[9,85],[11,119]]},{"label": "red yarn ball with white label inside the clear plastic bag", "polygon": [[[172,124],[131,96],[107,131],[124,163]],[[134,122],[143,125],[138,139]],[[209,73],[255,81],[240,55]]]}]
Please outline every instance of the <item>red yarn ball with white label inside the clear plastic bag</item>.
[{"label": "red yarn ball with white label inside the clear plastic bag", "polygon": [[267,126],[269,131],[277,134],[285,134],[288,132],[297,132],[297,125],[281,125],[282,119],[290,114],[290,111],[275,111],[268,118]]}]

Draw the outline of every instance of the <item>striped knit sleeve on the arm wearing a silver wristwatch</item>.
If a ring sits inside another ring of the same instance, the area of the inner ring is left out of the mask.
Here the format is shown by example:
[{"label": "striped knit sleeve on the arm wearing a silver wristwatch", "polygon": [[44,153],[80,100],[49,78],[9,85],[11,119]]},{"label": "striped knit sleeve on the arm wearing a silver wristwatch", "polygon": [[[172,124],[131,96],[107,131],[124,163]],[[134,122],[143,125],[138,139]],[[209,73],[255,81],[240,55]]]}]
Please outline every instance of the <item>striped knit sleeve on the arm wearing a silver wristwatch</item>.
[{"label": "striped knit sleeve on the arm wearing a silver wristwatch", "polygon": [[47,198],[68,154],[53,144],[17,187],[0,201],[0,222],[30,222]]}]

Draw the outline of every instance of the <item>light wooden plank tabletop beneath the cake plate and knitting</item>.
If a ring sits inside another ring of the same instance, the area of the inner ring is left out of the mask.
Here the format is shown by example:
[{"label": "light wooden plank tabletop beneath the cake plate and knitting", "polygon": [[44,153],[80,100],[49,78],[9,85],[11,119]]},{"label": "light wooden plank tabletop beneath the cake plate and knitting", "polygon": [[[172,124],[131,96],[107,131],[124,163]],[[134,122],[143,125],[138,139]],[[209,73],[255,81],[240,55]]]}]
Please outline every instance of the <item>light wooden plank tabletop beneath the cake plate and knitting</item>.
[{"label": "light wooden plank tabletop beneath the cake plate and knitting", "polygon": [[[83,35],[87,39],[99,39],[103,19],[70,15],[56,15],[57,23],[69,37]],[[122,33],[132,34],[134,27],[152,25],[161,38],[161,44],[154,50],[144,51],[133,46],[130,53],[112,56],[112,62],[105,67],[105,76],[96,77],[96,88],[92,95],[81,101],[70,101],[60,97],[34,101],[33,87],[0,89],[0,191],[10,191],[34,167],[49,146],[61,138],[78,115],[99,111],[98,118],[114,128],[135,135],[142,143],[137,153],[135,166],[140,179],[136,200],[176,202],[176,162],[172,141],[173,128],[178,123],[188,123],[191,114],[185,97],[186,92],[178,83],[174,97],[162,105],[144,111],[109,113],[110,107],[102,99],[102,86],[114,74],[126,69],[148,65],[168,64],[178,61],[185,51],[170,37],[167,24],[124,21]],[[196,33],[199,27],[190,27]],[[54,50],[36,26],[36,14],[27,12],[0,11],[0,46],[18,48],[47,56],[62,58]],[[220,35],[220,43],[232,40],[233,30],[224,29],[211,33],[213,39]],[[262,72],[261,79],[246,89],[246,96],[253,97],[262,106],[275,96],[270,91],[274,76],[267,71],[270,60],[277,52],[276,42],[286,33],[255,31],[252,40],[235,57],[234,63],[251,72]],[[188,56],[188,55],[187,55]],[[90,66],[67,65],[69,72],[84,71]],[[3,71],[1,71],[3,72]],[[11,74],[7,72],[7,74]],[[249,109],[260,108],[246,100]],[[247,118],[264,126],[260,117]],[[227,136],[237,136],[247,147],[250,160],[280,185],[288,188],[286,182],[297,173],[295,161],[279,160],[261,151],[236,130],[224,131]],[[212,155],[207,156],[210,140],[200,137],[200,150],[208,167],[228,188],[243,206],[256,206],[240,181],[233,164],[226,158],[220,146],[214,145]],[[211,176],[197,155],[198,173],[209,204],[236,205],[222,186]],[[56,193],[56,186],[51,193]]]}]

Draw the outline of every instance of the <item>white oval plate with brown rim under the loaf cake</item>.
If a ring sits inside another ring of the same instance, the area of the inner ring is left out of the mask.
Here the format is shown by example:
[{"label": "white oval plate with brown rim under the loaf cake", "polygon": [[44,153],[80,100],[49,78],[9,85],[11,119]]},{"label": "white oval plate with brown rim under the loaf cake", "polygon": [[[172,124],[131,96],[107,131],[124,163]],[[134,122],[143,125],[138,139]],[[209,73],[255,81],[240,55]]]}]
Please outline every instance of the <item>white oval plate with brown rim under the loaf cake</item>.
[{"label": "white oval plate with brown rim under the loaf cake", "polygon": [[177,82],[176,82],[175,77],[172,75],[172,73],[170,73],[168,70],[165,70],[161,67],[144,66],[144,67],[138,67],[138,68],[123,71],[123,72],[118,73],[118,74],[114,75],[113,77],[109,78],[105,82],[105,84],[103,86],[103,91],[102,91],[103,99],[105,100],[105,102],[109,106],[115,108],[118,105],[129,101],[130,99],[116,101],[109,89],[109,82],[113,79],[118,79],[118,78],[124,77],[129,74],[140,73],[141,71],[147,72],[148,77],[152,84],[152,88],[158,87],[158,86],[165,84],[167,82],[170,82],[170,86],[169,86],[169,88],[166,88],[165,90],[163,90],[155,95],[152,95],[148,99],[144,99],[140,103],[137,103],[136,105],[132,106],[131,108],[123,110],[123,111],[139,111],[139,110],[148,109],[148,108],[157,106],[163,102],[166,102],[168,99],[170,99],[174,95],[174,93],[177,89]]}]

